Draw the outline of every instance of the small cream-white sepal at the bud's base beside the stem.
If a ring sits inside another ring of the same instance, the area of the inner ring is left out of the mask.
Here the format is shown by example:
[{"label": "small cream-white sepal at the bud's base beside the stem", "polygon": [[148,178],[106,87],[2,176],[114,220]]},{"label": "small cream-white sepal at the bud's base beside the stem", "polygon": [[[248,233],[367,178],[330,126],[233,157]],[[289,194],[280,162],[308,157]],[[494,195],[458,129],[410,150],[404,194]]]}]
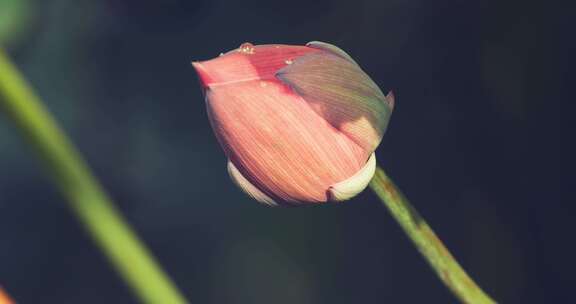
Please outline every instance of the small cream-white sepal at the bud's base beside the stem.
[{"label": "small cream-white sepal at the bud's base beside the stem", "polygon": [[336,183],[328,188],[330,201],[345,201],[362,192],[372,180],[376,172],[376,155],[372,153],[366,165],[352,177]]}]

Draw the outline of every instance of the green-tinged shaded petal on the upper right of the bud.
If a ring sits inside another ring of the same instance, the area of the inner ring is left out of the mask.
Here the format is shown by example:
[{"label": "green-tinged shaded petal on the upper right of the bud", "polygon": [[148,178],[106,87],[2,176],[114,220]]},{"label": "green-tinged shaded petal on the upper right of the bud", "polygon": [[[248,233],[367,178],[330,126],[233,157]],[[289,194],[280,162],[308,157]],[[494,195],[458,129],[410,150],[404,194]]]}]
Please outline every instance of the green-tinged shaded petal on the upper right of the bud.
[{"label": "green-tinged shaded petal on the upper right of the bud", "polygon": [[299,57],[276,76],[334,128],[372,153],[388,125],[391,103],[346,53],[329,44],[313,44],[328,51]]}]

